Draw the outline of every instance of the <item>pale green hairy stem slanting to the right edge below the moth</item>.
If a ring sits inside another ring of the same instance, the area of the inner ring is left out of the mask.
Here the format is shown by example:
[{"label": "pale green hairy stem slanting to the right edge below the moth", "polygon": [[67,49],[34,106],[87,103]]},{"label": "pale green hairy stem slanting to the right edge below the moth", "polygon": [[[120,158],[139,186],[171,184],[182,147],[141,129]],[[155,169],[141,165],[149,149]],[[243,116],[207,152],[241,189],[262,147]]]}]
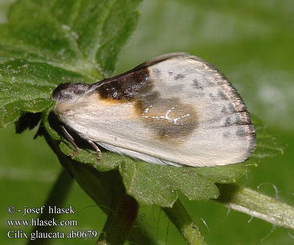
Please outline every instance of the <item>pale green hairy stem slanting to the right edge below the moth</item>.
[{"label": "pale green hairy stem slanting to the right edge below the moth", "polygon": [[228,208],[294,230],[294,207],[237,184],[219,184],[216,201]]}]

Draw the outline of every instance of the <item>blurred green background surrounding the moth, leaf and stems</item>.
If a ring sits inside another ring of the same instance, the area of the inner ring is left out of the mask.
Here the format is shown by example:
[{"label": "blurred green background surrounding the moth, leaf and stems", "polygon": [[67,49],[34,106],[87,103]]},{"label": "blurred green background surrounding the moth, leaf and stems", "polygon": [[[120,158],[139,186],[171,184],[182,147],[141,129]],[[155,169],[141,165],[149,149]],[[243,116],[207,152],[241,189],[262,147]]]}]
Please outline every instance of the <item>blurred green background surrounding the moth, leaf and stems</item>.
[{"label": "blurred green background surrounding the moth, leaf and stems", "polygon": [[[0,22],[5,22],[8,1],[0,1]],[[139,25],[120,56],[116,73],[132,69],[157,55],[186,51],[204,58],[221,70],[238,89],[249,111],[259,116],[268,131],[287,144],[284,155],[266,159],[238,183],[257,189],[271,183],[279,199],[294,205],[294,1],[217,1],[217,0],[145,0]],[[0,129],[0,241],[26,244],[7,238],[7,207],[40,207],[61,167],[43,138],[33,140],[36,129],[15,134],[14,125]],[[275,196],[271,185],[260,191]],[[248,215],[231,211],[214,201],[188,201],[184,205],[210,245],[292,245],[287,230],[277,227],[267,238],[272,225]],[[75,211],[94,202],[75,183],[64,207]],[[30,219],[33,216],[27,216]],[[159,219],[160,217],[160,219]],[[98,207],[88,207],[79,215],[64,215],[78,220],[77,227],[64,232],[103,228],[106,216]],[[159,244],[185,244],[172,223],[156,207],[142,207],[139,219],[150,228]],[[203,219],[208,227],[201,221]],[[168,234],[167,234],[168,227]],[[30,231],[29,227],[22,227]],[[290,231],[290,234],[293,234]],[[265,238],[264,240],[262,240]],[[52,244],[94,244],[93,240],[53,240]]]}]

